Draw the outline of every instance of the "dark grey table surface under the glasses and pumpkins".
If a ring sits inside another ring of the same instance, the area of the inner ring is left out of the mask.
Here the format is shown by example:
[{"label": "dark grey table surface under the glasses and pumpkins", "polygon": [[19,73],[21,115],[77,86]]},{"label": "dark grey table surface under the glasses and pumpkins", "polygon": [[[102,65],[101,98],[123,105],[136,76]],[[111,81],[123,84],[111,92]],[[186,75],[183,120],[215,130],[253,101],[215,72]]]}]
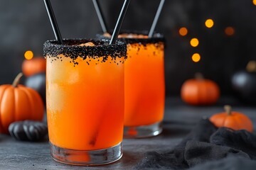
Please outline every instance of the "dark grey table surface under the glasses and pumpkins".
[{"label": "dark grey table surface under the glasses and pumpkins", "polygon": [[53,161],[48,140],[19,142],[9,135],[0,135],[0,169],[133,169],[145,152],[161,152],[175,147],[202,117],[223,112],[230,104],[234,111],[248,115],[256,127],[256,106],[242,106],[233,98],[220,98],[214,106],[188,106],[180,98],[166,98],[164,130],[161,135],[145,139],[124,139],[122,159],[104,166],[69,166]]}]

